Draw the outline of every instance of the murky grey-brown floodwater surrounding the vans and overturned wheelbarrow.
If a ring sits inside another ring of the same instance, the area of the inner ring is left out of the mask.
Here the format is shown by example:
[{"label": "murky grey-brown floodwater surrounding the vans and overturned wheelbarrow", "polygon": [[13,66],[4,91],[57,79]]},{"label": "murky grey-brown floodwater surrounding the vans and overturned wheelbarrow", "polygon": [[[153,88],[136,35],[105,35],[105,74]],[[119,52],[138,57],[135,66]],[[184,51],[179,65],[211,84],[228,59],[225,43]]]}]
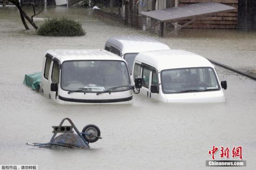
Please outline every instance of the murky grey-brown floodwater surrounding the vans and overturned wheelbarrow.
[{"label": "murky grey-brown floodwater surrounding the vans and overturned wheelbarrow", "polygon": [[[208,151],[243,146],[247,167],[256,168],[256,81],[216,67],[227,80],[226,102],[165,104],[134,94],[133,105],[62,106],[22,84],[25,74],[41,70],[49,49],[99,49],[111,36],[147,35],[171,48],[189,50],[237,69],[256,68],[256,33],[182,30],[167,38],[101,22],[84,8],[48,8],[37,18],[67,16],[80,20],[83,37],[40,37],[25,31],[14,7],[0,8],[0,164],[38,164],[39,170],[170,170],[205,167]],[[36,21],[40,24],[41,19]],[[52,127],[69,117],[79,130],[101,129],[91,149],[43,149]],[[216,159],[220,159],[219,151]],[[231,157],[231,153],[230,153]],[[229,158],[233,160],[233,158]],[[233,169],[225,167],[225,169]]]}]

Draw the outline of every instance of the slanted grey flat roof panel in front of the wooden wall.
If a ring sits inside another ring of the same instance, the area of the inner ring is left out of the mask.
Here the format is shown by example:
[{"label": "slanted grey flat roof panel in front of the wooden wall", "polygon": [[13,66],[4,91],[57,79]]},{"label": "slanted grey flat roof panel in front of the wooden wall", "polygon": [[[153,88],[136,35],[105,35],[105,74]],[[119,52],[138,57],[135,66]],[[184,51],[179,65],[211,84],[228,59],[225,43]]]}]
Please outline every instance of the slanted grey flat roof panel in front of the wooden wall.
[{"label": "slanted grey flat roof panel in front of the wooden wall", "polygon": [[163,10],[141,12],[141,14],[162,22],[175,22],[182,19],[194,19],[195,17],[207,16],[214,13],[230,12],[235,9],[236,8],[232,6],[227,6],[221,3],[202,2],[186,6],[166,8]]}]

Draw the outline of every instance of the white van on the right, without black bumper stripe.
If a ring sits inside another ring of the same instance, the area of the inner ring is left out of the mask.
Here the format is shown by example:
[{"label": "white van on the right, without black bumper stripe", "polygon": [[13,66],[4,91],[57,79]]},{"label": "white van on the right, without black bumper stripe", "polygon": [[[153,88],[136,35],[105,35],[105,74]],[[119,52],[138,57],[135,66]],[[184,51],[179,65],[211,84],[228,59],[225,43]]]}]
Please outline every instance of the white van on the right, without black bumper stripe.
[{"label": "white van on the right, without black bumper stripe", "polygon": [[214,65],[206,58],[184,50],[154,50],[139,53],[132,79],[142,78],[141,94],[164,102],[224,102]]}]

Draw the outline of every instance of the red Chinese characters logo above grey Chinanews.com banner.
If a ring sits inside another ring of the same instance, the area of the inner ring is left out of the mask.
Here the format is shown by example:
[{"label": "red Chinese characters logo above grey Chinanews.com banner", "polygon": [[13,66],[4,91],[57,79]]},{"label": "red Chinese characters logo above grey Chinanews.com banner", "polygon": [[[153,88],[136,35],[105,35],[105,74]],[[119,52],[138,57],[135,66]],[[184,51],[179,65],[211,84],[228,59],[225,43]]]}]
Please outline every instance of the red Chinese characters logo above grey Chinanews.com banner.
[{"label": "red Chinese characters logo above grey Chinanews.com banner", "polygon": [[[242,146],[233,146],[230,149],[229,147],[221,146],[219,149],[218,147],[213,145],[212,149],[208,151],[208,154],[211,156],[212,160],[207,160],[206,166],[246,166],[246,161],[243,160]],[[215,160],[217,155],[219,155],[219,157],[222,159],[225,158],[226,160]]]}]

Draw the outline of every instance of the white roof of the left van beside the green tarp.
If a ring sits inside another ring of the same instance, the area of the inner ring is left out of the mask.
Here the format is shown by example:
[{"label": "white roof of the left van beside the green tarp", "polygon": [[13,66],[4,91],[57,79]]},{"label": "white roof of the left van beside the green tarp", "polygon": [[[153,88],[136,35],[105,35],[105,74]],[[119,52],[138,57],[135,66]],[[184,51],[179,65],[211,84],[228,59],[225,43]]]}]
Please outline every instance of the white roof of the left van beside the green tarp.
[{"label": "white roof of the left van beside the green tarp", "polygon": [[108,52],[107,50],[48,50],[50,54],[58,59],[61,63],[67,60],[120,60],[121,57]]}]

